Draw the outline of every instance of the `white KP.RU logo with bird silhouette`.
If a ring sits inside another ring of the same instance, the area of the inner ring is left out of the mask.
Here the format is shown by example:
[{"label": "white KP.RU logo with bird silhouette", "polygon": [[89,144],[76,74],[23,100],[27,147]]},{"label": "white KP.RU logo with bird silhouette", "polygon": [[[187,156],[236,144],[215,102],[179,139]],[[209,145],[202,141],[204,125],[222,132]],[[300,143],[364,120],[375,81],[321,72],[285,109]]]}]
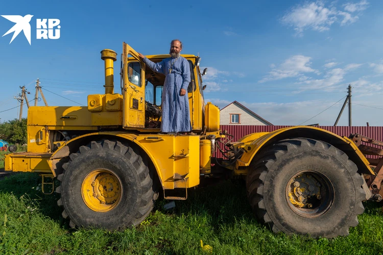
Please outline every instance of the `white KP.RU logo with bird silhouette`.
[{"label": "white KP.RU logo with bird silhouette", "polygon": [[[8,35],[12,32],[13,39],[16,38],[18,34],[22,31],[27,38],[29,45],[31,45],[31,25],[29,22],[31,21],[33,15],[25,15],[24,17],[20,15],[1,15],[2,17],[16,23],[13,27],[8,30],[3,36]],[[48,23],[48,24],[46,24]],[[60,38],[60,19],[57,18],[43,18],[36,19],[36,39],[59,39]],[[11,44],[11,42],[9,44]]]}]

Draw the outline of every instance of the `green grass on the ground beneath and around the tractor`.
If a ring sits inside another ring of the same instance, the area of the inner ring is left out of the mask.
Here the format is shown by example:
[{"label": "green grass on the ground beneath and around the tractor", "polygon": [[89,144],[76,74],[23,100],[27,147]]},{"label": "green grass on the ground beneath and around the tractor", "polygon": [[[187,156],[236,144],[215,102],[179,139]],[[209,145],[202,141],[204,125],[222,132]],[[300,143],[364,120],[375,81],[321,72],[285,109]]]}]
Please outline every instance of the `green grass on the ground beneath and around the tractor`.
[{"label": "green grass on the ground beneath and around the tractor", "polygon": [[70,230],[58,195],[41,194],[39,178],[20,173],[0,181],[0,254],[203,254],[200,239],[213,254],[383,253],[383,213],[376,203],[365,204],[347,237],[286,236],[257,223],[244,185],[228,181],[189,190],[172,211],[162,210],[167,201],[160,199],[143,223],[124,232]]}]

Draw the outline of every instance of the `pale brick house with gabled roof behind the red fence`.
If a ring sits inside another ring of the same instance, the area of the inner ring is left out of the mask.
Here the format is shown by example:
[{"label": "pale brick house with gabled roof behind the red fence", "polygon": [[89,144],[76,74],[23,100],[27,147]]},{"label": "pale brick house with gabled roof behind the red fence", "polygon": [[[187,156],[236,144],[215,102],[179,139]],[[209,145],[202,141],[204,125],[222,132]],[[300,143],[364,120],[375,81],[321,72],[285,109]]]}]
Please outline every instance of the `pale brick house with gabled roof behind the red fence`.
[{"label": "pale brick house with gabled roof behind the red fence", "polygon": [[220,111],[221,125],[273,125],[237,101]]}]

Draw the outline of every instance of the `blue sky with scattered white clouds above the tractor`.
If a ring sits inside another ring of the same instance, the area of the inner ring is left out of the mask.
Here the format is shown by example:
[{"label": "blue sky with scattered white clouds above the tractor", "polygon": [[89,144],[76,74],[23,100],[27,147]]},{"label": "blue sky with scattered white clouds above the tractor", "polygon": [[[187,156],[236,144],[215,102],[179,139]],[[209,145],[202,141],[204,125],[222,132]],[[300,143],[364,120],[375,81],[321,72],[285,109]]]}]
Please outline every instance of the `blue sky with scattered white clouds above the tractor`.
[{"label": "blue sky with scattered white clouds above the tractor", "polygon": [[[14,96],[26,86],[33,100],[37,79],[49,106],[104,93],[104,48],[117,52],[118,92],[124,41],[154,55],[177,38],[208,68],[205,102],[236,100],[275,125],[333,125],[350,84],[352,125],[382,126],[382,11],[379,0],[3,1],[0,15],[33,17],[31,44],[22,31],[10,43],[15,23],[0,17],[0,121],[18,118]],[[37,39],[40,19],[59,19],[60,37]],[[347,107],[338,125],[348,125]]]}]

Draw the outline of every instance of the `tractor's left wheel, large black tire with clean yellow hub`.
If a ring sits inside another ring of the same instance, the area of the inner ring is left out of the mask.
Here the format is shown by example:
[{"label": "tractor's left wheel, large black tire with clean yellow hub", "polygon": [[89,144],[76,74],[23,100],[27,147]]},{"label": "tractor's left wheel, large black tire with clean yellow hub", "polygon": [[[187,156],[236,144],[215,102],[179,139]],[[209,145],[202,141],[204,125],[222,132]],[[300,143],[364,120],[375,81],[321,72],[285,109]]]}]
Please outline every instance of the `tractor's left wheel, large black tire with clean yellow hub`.
[{"label": "tractor's left wheel, large black tire with clean yellow hub", "polygon": [[92,141],[69,155],[58,175],[58,205],[71,227],[122,230],[139,224],[158,197],[153,172],[134,147],[116,141]]}]

